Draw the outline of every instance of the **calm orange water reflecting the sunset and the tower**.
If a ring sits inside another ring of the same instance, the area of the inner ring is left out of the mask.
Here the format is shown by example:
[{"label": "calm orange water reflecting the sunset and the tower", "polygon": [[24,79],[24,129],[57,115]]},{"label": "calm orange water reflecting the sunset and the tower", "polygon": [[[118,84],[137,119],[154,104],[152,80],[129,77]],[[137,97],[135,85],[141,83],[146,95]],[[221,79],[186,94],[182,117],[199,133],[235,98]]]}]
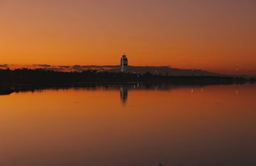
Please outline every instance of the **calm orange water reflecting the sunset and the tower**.
[{"label": "calm orange water reflecting the sunset and the tower", "polygon": [[0,96],[0,165],[256,165],[256,85]]}]

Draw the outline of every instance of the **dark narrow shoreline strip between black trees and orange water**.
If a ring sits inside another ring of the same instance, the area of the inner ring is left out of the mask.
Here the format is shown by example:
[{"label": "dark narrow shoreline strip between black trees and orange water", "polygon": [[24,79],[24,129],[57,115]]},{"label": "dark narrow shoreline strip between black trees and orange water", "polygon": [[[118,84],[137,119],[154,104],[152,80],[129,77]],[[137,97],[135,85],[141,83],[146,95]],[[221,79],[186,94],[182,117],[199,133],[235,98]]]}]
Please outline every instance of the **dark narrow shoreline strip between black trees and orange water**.
[{"label": "dark narrow shoreline strip between black trees and orange water", "polygon": [[24,91],[36,91],[45,89],[72,89],[72,88],[99,88],[104,89],[113,87],[137,87],[141,86],[144,89],[154,89],[155,86],[160,86],[163,89],[172,89],[173,87],[204,87],[204,86],[218,86],[218,85],[234,85],[234,84],[255,84],[255,82],[183,82],[183,84],[173,84],[173,82],[66,82],[58,84],[0,84],[0,95],[8,95],[12,93],[19,93]]}]

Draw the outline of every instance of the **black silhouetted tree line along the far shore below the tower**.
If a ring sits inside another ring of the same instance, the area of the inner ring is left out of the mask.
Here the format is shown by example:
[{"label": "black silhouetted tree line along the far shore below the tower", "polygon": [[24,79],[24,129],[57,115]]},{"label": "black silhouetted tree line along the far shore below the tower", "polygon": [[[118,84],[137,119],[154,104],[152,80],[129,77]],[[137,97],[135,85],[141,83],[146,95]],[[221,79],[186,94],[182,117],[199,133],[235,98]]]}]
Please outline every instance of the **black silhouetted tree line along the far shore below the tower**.
[{"label": "black silhouetted tree line along the far shore below the tower", "polygon": [[232,84],[235,81],[244,82],[246,79],[239,77],[209,77],[209,76],[167,76],[145,73],[116,73],[85,70],[83,72],[55,72],[42,69],[16,69],[0,70],[0,84],[17,85],[54,85],[74,83],[109,83],[109,82],[147,82],[147,83],[172,83],[172,84]]}]

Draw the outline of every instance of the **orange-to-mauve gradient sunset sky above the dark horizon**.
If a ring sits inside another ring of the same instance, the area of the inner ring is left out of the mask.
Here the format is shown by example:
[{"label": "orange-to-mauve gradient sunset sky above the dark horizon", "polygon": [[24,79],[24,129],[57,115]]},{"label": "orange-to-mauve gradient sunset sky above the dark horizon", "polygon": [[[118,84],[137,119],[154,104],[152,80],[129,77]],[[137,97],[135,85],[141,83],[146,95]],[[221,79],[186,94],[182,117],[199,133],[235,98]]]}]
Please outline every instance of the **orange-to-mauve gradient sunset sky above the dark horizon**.
[{"label": "orange-to-mauve gradient sunset sky above the dark horizon", "polygon": [[0,63],[256,75],[255,0],[1,0]]}]

